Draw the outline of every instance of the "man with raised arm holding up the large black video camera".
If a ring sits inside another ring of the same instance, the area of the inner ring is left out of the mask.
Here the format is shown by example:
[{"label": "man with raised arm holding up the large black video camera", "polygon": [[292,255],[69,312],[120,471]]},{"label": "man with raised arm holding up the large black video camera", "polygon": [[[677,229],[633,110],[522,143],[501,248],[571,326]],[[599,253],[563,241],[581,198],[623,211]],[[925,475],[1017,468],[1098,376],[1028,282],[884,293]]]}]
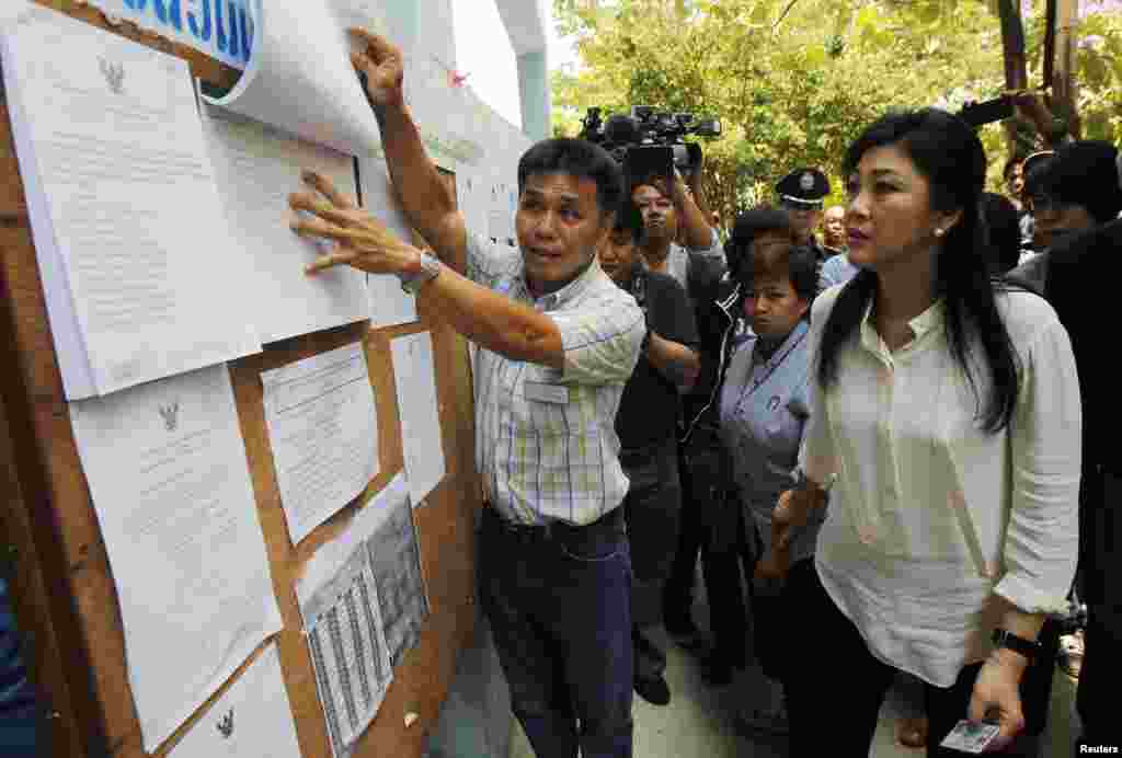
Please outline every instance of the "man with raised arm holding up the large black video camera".
[{"label": "man with raised arm holding up the large black video camera", "polygon": [[[696,290],[724,272],[725,253],[717,230],[709,225],[677,170],[672,182],[659,175],[641,177],[632,187],[632,201],[643,216],[643,262],[652,271],[677,279],[692,304]],[[678,244],[679,233],[684,244]]]}]

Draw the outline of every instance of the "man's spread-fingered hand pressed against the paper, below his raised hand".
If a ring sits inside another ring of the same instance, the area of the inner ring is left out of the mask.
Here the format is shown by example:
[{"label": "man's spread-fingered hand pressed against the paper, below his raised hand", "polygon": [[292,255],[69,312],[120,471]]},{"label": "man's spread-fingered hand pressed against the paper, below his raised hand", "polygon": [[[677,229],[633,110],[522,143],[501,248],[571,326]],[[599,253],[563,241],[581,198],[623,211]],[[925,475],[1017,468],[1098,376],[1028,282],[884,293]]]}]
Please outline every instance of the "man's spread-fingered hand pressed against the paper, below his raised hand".
[{"label": "man's spread-fingered hand pressed against the paper, below his raised hand", "polygon": [[[320,237],[339,243],[333,252],[309,264],[304,269],[307,274],[340,265],[370,274],[405,274],[420,265],[416,248],[352,205],[325,176],[305,170],[303,179],[314,192],[296,192],[288,196],[288,205],[297,211],[289,227],[301,237]],[[307,215],[298,214],[300,211]]]}]

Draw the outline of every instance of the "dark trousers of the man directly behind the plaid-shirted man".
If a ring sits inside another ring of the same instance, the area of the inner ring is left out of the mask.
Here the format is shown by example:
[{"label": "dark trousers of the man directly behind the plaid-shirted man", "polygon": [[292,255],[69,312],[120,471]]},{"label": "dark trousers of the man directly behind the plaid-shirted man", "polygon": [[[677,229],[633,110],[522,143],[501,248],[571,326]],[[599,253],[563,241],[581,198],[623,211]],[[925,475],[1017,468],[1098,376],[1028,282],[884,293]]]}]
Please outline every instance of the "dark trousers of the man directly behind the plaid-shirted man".
[{"label": "dark trousers of the man directly behind the plaid-shirted man", "polygon": [[678,546],[682,506],[678,444],[671,438],[661,445],[624,450],[619,462],[631,481],[623,507],[634,572],[635,676],[653,678],[666,669],[666,654],[643,629],[662,620],[663,588]]}]

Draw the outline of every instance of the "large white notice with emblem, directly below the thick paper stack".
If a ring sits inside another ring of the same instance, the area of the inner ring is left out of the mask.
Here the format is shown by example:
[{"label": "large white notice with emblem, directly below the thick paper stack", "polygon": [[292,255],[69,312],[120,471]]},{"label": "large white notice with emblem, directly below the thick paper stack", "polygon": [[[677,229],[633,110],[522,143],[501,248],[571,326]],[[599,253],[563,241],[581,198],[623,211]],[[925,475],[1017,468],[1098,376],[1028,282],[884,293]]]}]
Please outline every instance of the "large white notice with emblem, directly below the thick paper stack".
[{"label": "large white notice with emblem, directly below the thick paper stack", "polygon": [[280,629],[230,376],[215,366],[70,413],[155,752]]}]

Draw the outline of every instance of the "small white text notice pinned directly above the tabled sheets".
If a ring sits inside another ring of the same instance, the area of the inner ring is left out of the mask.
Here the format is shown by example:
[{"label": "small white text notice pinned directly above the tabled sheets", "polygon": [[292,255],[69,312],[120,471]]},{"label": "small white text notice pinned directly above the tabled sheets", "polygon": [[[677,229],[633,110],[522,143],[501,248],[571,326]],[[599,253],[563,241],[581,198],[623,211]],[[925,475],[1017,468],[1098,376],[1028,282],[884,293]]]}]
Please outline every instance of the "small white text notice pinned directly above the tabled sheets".
[{"label": "small white text notice pinned directly above the tabled sheets", "polygon": [[378,473],[378,417],[362,344],[261,373],[265,422],[293,544]]}]

